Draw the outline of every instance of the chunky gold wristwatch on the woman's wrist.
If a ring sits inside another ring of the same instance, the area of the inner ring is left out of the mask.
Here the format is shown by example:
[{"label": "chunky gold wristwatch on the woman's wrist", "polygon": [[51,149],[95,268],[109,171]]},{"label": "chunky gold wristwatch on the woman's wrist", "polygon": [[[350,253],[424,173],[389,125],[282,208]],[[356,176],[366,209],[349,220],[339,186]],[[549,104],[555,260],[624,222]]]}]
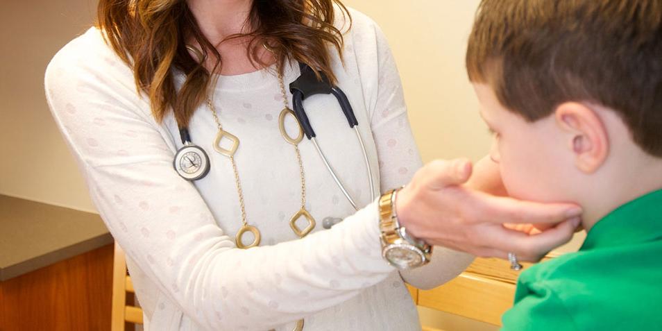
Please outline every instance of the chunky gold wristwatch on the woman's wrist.
[{"label": "chunky gold wristwatch on the woman's wrist", "polygon": [[432,246],[412,237],[398,223],[396,196],[401,189],[392,189],[379,201],[382,256],[398,269],[412,269],[430,262]]}]

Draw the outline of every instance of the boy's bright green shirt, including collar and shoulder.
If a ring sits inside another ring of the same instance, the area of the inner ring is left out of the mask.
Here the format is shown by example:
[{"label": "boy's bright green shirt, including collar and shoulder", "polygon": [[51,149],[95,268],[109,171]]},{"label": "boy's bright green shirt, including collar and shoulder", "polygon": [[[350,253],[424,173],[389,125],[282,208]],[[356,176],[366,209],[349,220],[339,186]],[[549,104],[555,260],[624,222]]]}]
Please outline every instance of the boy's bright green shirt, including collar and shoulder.
[{"label": "boy's bright green shirt, including collar and shoulder", "polygon": [[518,279],[501,330],[662,330],[662,189],[618,207],[577,253]]}]

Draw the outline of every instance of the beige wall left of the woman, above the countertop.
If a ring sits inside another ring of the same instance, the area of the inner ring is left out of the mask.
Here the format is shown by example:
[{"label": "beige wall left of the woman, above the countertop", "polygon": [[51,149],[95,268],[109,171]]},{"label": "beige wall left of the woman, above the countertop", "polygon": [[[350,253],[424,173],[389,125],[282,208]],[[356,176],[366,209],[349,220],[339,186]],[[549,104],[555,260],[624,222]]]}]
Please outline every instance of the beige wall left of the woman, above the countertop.
[{"label": "beige wall left of the woman, above the countertop", "polygon": [[0,4],[0,194],[94,211],[44,97],[53,55],[89,27],[94,0]]}]

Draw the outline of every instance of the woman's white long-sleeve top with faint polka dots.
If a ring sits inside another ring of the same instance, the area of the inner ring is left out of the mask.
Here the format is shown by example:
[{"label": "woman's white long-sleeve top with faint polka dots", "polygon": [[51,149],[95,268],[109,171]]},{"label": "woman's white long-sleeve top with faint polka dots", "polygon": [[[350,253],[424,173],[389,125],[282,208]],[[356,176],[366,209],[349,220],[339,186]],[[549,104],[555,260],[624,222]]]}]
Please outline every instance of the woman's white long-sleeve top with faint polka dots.
[{"label": "woman's white long-sleeve top with faint polka dots", "polygon": [[[371,19],[350,12],[344,66],[332,52],[333,69],[359,121],[375,189],[384,192],[407,183],[421,160],[387,41]],[[337,24],[347,30],[343,19]],[[287,65],[286,85],[298,74],[296,63]],[[211,169],[190,183],[173,169],[182,144],[172,114],[162,124],[153,119],[130,67],[97,28],[56,54],[45,85],[92,201],[126,251],[148,330],[291,330],[302,318],[305,330],[420,330],[402,278],[434,287],[472,259],[437,247],[432,263],[402,273],[383,260],[362,151],[330,95],[310,97],[305,108],[321,148],[362,209],[355,212],[304,139],[307,210],[317,226],[298,239],[289,219],[300,208],[300,174],[294,148],[278,128],[278,78],[264,69],[219,77],[212,99],[223,128],[239,137],[235,160],[248,224],[262,233],[259,247],[241,250],[232,165],[212,148],[217,125],[205,105],[189,132],[210,156]],[[323,230],[325,217],[344,221]]]}]

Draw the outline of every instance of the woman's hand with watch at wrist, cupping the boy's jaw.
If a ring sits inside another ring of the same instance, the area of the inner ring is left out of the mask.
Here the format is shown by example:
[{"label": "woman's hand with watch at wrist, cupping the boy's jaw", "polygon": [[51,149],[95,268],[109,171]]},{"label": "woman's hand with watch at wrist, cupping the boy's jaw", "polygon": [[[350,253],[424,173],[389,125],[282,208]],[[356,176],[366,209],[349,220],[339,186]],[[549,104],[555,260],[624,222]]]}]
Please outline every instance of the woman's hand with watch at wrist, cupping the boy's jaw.
[{"label": "woman's hand with watch at wrist, cupping the boy's jaw", "polygon": [[[503,194],[498,173],[479,171],[465,185],[473,166],[468,160],[437,160],[421,168],[398,192],[398,219],[407,231],[428,244],[481,257],[538,261],[572,238],[582,209],[566,203],[519,201]],[[484,192],[486,191],[486,192]],[[537,234],[520,232],[523,224],[544,224]],[[548,227],[548,228],[547,228]]]}]

